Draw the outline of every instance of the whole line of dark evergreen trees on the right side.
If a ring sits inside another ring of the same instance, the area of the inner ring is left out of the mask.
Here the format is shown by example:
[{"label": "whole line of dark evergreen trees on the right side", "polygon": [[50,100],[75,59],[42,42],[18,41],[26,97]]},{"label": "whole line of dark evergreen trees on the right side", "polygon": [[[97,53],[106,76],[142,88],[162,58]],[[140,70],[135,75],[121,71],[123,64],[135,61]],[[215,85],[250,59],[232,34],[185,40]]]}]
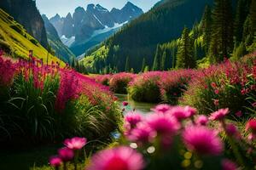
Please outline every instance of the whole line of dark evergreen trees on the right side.
[{"label": "whole line of dark evergreen trees on the right side", "polygon": [[207,5],[201,22],[191,31],[185,26],[179,39],[157,45],[152,70],[195,68],[204,57],[212,64],[224,58],[239,59],[255,50],[256,1],[235,4],[215,0],[212,8]]}]

